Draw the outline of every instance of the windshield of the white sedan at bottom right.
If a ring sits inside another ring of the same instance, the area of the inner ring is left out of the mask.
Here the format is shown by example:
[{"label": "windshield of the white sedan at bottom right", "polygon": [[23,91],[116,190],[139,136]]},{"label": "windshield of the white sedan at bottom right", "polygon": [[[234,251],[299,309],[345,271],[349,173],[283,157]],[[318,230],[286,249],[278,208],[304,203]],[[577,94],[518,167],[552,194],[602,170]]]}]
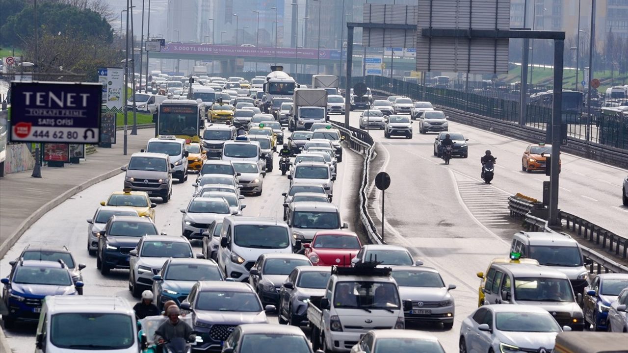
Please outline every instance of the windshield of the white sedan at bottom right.
[{"label": "windshield of the white sedan at bottom right", "polygon": [[495,313],[495,327],[509,332],[560,332],[560,326],[549,313]]}]

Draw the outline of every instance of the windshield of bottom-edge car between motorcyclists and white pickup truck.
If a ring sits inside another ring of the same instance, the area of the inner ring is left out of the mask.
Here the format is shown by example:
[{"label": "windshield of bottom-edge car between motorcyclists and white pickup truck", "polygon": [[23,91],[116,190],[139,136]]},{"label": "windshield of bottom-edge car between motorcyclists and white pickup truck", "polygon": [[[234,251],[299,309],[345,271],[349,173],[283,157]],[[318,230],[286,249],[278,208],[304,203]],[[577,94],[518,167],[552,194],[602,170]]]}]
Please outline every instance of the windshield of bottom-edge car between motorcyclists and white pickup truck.
[{"label": "windshield of bottom-edge car between motorcyclists and white pickup truck", "polygon": [[277,349],[288,349],[290,353],[310,353],[305,337],[284,334],[248,334],[242,338],[239,352],[274,353]]}]

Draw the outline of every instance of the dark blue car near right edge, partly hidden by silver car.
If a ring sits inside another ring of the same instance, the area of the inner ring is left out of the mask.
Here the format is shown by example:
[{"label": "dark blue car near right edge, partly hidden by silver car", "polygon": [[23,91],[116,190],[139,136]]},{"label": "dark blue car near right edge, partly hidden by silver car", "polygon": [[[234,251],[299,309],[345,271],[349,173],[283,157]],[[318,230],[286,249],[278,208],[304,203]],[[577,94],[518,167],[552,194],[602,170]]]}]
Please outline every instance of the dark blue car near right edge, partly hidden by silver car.
[{"label": "dark blue car near right edge, partly hidden by silver car", "polygon": [[584,290],[582,312],[586,325],[593,330],[607,330],[610,303],[617,300],[620,291],[628,287],[628,273],[602,273]]}]

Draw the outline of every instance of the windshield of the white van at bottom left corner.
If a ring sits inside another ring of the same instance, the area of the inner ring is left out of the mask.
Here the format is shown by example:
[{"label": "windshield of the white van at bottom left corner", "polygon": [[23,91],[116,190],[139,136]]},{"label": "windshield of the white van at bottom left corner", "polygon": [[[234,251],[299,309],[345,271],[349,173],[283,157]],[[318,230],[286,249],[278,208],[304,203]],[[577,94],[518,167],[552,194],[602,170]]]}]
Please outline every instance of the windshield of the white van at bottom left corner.
[{"label": "windshield of the white van at bottom left corner", "polygon": [[126,314],[58,313],[50,319],[50,343],[70,351],[126,349],[136,342],[135,326]]}]

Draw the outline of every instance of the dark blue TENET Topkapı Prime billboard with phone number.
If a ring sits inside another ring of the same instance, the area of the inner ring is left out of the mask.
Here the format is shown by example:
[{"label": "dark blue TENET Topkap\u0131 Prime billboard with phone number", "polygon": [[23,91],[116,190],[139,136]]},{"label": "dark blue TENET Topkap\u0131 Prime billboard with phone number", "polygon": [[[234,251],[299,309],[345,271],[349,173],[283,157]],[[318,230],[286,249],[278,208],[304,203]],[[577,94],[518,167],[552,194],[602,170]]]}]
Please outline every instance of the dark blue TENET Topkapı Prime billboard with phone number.
[{"label": "dark blue TENET Topkap\u0131 Prime billboard with phone number", "polygon": [[99,143],[97,83],[11,83],[11,141]]}]

